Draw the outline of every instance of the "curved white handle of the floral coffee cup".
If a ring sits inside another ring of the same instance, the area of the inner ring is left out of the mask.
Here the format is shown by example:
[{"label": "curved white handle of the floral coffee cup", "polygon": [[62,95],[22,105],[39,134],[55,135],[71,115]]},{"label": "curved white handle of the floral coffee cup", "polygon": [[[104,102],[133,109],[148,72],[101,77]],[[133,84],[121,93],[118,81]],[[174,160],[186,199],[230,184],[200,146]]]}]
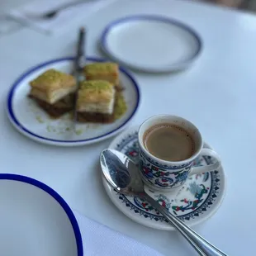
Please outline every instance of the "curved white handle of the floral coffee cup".
[{"label": "curved white handle of the floral coffee cup", "polygon": [[213,159],[215,159],[215,163],[209,164],[206,166],[193,167],[192,171],[189,173],[189,176],[194,175],[194,174],[211,172],[211,171],[214,171],[214,170],[220,168],[220,165],[221,165],[220,156],[212,149],[201,149],[200,156],[211,156]]}]

